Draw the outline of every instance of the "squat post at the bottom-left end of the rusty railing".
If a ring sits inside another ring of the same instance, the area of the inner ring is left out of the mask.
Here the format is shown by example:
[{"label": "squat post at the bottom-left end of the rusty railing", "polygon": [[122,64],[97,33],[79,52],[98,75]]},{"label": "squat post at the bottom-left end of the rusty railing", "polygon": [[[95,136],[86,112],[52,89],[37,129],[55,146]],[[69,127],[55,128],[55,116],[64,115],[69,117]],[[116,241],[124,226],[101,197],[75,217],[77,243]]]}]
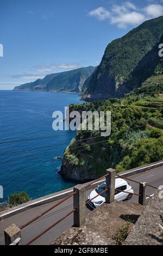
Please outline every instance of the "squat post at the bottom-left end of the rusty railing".
[{"label": "squat post at the bottom-left end of the rusty railing", "polygon": [[15,224],[10,225],[10,227],[4,230],[4,240],[5,245],[10,245],[16,240],[18,241],[18,245],[21,245],[21,229]]}]

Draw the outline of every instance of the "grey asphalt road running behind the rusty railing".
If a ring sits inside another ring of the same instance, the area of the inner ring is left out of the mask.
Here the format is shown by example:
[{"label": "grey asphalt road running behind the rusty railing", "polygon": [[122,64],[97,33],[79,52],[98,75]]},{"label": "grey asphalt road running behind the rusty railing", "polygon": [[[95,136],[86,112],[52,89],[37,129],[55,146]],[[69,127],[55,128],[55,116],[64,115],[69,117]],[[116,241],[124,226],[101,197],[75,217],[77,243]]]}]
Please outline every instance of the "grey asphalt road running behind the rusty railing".
[{"label": "grey asphalt road running behind the rusty railing", "polygon": [[[159,187],[163,185],[163,167],[158,167],[152,170],[148,170],[147,172],[134,175],[130,177],[139,182],[147,182],[150,185]],[[134,182],[129,182],[133,187],[135,193],[139,193],[139,184]],[[92,189],[91,189],[92,190]],[[87,190],[87,194],[90,193],[91,190]],[[147,195],[151,196],[155,192],[154,188],[147,188]],[[134,202],[137,202],[137,196],[133,196],[131,199]],[[4,229],[9,227],[12,223],[15,223],[18,227],[22,224],[28,222],[35,216],[41,214],[41,212],[47,210],[52,205],[57,203],[51,202],[45,205],[37,206],[36,208],[29,209],[27,211],[21,212],[15,216],[9,217],[0,222],[0,245],[4,245]],[[46,215],[42,216],[32,224],[28,225],[28,227],[22,229],[22,245],[26,245],[26,243],[31,240],[33,237],[41,233],[43,230],[50,227],[55,221],[58,221],[62,216],[66,215],[73,209],[73,198],[66,200],[64,203],[59,205],[57,208],[49,211]],[[86,212],[90,212],[90,210],[86,209]],[[32,243],[32,245],[49,245],[52,241],[54,241],[59,235],[61,235],[65,230],[67,230],[73,224],[73,215],[68,216],[64,221],[56,225],[51,230],[47,231],[46,234],[42,235]]]}]

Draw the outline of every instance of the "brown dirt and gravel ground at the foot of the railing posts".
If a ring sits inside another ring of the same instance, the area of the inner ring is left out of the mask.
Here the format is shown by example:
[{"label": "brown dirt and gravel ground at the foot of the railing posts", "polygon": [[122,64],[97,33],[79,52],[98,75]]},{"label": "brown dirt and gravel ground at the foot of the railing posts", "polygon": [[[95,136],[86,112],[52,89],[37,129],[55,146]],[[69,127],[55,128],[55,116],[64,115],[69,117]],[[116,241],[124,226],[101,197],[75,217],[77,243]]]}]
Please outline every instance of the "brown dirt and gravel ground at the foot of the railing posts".
[{"label": "brown dirt and gravel ground at the foot of the railing posts", "polygon": [[68,229],[52,245],[116,245],[117,231],[128,223],[128,232],[133,229],[143,209],[133,202],[103,204],[87,215],[85,225]]}]

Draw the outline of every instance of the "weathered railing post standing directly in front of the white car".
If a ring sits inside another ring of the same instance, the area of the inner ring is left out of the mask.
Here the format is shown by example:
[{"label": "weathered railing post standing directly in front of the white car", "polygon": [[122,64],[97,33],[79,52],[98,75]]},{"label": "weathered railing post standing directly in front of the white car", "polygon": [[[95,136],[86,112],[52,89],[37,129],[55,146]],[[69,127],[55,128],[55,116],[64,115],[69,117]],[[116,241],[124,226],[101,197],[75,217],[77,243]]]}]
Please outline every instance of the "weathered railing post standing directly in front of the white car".
[{"label": "weathered railing post standing directly in front of the white car", "polygon": [[114,169],[109,168],[106,170],[106,188],[108,189],[106,191],[106,198],[105,198],[105,203],[111,204],[114,202],[114,197],[115,197],[115,176],[116,172]]}]

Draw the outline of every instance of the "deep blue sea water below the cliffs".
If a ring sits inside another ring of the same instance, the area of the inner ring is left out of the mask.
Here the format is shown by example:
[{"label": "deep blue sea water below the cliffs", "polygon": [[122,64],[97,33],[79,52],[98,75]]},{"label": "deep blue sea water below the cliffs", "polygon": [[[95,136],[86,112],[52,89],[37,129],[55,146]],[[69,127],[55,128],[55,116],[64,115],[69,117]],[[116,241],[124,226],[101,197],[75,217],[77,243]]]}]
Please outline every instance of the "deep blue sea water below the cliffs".
[{"label": "deep blue sea water below the cliffs", "polygon": [[[61,161],[55,157],[63,155],[76,133],[52,129],[52,113],[64,113],[70,103],[81,103],[79,96],[0,90],[0,185],[4,199],[20,191],[34,199],[74,185],[58,174]],[[64,145],[49,147],[53,144]]]}]

